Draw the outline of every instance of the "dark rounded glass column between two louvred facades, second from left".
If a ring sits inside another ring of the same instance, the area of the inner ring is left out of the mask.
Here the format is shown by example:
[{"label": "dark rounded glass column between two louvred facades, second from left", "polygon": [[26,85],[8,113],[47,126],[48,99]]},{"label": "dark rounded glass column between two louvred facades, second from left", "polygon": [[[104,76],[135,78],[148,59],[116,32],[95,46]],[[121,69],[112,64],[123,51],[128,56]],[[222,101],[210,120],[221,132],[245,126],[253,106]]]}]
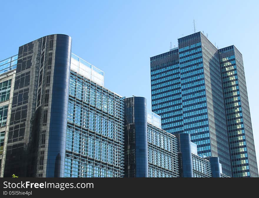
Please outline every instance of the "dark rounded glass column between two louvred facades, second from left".
[{"label": "dark rounded glass column between two louvred facades, second from left", "polygon": [[124,174],[125,177],[148,177],[147,100],[124,99]]}]

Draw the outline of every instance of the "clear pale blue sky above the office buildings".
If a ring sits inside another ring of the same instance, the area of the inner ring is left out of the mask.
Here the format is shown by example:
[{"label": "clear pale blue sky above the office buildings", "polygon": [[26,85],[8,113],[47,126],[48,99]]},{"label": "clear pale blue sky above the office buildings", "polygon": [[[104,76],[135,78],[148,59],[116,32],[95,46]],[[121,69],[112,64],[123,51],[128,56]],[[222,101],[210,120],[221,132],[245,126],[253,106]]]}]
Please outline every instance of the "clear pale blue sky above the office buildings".
[{"label": "clear pale blue sky above the office buildings", "polygon": [[72,37],[72,52],[104,71],[104,86],[147,98],[150,57],[177,46],[177,38],[204,31],[219,48],[243,55],[259,165],[258,1],[1,1],[0,60],[49,34]]}]

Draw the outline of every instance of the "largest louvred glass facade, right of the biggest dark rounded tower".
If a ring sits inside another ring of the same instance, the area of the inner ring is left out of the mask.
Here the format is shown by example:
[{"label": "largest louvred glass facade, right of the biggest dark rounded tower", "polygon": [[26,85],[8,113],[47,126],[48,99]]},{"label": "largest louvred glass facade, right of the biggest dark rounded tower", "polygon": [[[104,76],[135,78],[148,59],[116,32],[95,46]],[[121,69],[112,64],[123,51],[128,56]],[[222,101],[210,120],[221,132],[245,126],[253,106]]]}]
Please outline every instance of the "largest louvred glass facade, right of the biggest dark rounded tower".
[{"label": "largest louvred glass facade, right of the biggest dark rounded tower", "polygon": [[64,177],[122,177],[124,100],[82,74],[71,68]]}]

